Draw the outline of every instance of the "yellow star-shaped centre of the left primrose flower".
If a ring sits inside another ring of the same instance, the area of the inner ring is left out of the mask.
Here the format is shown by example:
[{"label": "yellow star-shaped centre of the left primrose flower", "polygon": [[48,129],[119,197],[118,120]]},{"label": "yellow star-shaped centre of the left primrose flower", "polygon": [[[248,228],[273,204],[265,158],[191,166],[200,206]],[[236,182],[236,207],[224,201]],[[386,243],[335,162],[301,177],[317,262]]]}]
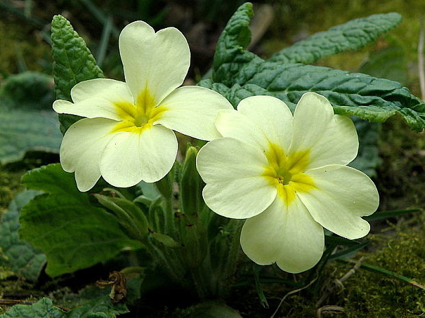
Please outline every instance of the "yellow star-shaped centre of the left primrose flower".
[{"label": "yellow star-shaped centre of the left primrose flower", "polygon": [[143,90],[137,96],[136,105],[127,101],[115,102],[115,109],[121,122],[114,125],[111,133],[127,131],[130,133],[142,133],[145,129],[152,126],[162,113],[167,110],[164,106],[155,107],[156,101],[147,90]]}]

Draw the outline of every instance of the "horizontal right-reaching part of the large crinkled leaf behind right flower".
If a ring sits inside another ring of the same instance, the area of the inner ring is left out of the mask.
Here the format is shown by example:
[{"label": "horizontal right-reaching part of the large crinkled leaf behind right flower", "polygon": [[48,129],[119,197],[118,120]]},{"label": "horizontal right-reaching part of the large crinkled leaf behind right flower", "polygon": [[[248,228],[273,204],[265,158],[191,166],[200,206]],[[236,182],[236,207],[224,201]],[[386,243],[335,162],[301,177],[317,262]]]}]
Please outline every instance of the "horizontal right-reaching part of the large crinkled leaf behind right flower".
[{"label": "horizontal right-reaching part of the large crinkled leaf behind right flower", "polygon": [[[249,66],[255,70],[247,73],[244,70]],[[253,61],[234,77],[234,82],[227,90],[210,80],[199,85],[219,88],[234,106],[249,96],[270,95],[280,98],[291,110],[304,93],[316,92],[328,98],[335,114],[371,122],[385,122],[400,114],[412,129],[425,128],[425,103],[400,83],[387,79],[321,66]]]}]

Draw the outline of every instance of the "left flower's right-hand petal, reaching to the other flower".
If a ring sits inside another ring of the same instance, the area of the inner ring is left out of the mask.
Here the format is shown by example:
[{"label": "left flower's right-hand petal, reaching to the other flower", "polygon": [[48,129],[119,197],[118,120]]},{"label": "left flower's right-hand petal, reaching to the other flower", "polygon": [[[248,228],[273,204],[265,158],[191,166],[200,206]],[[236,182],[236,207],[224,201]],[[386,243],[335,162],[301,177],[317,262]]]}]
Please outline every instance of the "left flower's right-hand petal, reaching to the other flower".
[{"label": "left flower's right-hand petal, reaching to the other flower", "polygon": [[160,107],[166,110],[156,123],[199,140],[221,137],[214,124],[217,111],[233,109],[219,93],[199,86],[178,88],[162,101]]}]

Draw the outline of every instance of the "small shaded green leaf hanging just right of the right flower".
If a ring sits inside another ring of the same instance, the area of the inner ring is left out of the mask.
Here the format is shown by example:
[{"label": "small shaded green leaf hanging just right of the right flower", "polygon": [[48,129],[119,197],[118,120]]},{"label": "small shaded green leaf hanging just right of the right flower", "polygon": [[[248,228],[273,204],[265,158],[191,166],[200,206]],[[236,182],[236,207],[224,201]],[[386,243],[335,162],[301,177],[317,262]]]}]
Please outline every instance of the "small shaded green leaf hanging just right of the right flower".
[{"label": "small shaded green leaf hanging just right of the right flower", "polygon": [[381,162],[378,150],[378,140],[381,125],[374,122],[365,122],[354,118],[357,135],[359,135],[359,153],[356,159],[348,165],[363,171],[371,178],[376,176],[376,167]]}]

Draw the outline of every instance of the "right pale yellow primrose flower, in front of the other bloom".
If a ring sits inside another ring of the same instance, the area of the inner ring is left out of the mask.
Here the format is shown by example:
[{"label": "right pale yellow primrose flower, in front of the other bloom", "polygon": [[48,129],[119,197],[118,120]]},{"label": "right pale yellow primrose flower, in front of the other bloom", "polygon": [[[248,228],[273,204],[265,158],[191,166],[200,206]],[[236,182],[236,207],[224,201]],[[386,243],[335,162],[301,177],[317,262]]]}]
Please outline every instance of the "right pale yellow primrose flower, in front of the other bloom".
[{"label": "right pale yellow primrose flower, in front of the other bloom", "polygon": [[356,129],[324,96],[304,94],[293,116],[278,98],[252,96],[219,111],[215,124],[223,137],[197,156],[204,200],[219,215],[248,219],[241,246],[252,261],[299,273],[321,258],[323,228],[367,235],[361,216],[376,211],[378,191],[346,166],[359,148]]}]

